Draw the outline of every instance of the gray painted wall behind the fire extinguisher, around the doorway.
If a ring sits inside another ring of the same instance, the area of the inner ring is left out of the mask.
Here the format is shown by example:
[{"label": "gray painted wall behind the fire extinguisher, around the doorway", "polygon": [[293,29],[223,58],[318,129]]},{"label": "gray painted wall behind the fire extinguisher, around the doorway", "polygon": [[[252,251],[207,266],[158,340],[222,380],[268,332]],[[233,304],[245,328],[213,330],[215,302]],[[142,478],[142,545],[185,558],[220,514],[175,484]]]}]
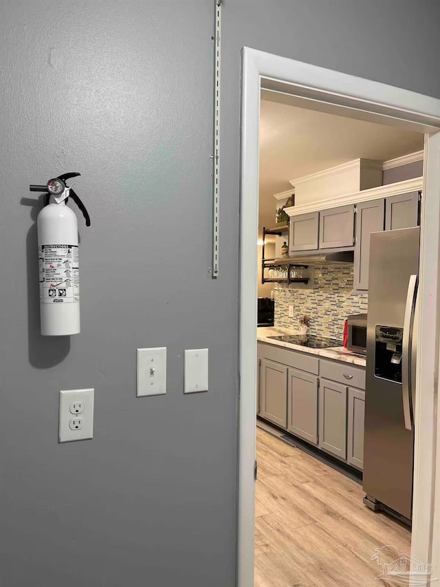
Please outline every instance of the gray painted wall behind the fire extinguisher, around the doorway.
[{"label": "gray painted wall behind the fire extinguisher, around the doorway", "polygon": [[[210,0],[1,3],[2,587],[234,585],[241,47],[440,97],[436,0],[224,0],[212,281],[212,17]],[[63,171],[92,218],[71,341],[39,337],[23,200]],[[152,345],[168,394],[136,399]],[[210,392],[184,396],[183,350],[204,346]],[[94,440],[58,445],[58,390],[88,386]]]}]

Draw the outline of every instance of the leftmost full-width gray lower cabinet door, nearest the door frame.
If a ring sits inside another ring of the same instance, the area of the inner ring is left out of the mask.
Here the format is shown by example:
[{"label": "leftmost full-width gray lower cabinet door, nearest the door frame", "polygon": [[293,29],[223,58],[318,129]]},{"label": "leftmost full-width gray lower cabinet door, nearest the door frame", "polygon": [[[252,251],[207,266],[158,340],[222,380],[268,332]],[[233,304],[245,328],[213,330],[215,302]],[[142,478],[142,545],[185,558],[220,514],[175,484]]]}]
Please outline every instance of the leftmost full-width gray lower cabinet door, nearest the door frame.
[{"label": "leftmost full-width gray lower cabinet door, nearest the door frame", "polygon": [[287,427],[287,367],[261,360],[261,416]]}]

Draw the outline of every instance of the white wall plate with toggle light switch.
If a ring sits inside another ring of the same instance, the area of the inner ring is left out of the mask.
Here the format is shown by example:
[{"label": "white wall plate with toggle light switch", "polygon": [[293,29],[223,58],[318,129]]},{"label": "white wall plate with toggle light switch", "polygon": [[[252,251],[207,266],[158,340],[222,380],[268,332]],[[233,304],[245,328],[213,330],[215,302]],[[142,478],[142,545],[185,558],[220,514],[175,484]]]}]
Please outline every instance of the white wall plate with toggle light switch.
[{"label": "white wall plate with toggle light switch", "polygon": [[166,347],[137,349],[136,396],[166,394]]}]

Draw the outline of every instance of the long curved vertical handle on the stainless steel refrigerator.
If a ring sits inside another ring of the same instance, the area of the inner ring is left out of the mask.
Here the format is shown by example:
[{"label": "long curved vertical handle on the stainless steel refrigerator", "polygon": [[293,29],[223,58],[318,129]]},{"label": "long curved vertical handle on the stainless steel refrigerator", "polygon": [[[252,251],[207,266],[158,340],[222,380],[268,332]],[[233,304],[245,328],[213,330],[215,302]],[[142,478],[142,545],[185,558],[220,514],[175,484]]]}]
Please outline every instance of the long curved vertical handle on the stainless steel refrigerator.
[{"label": "long curved vertical handle on the stainless steel refrigerator", "polygon": [[411,275],[406,295],[404,339],[402,341],[402,365],[401,365],[401,394],[404,405],[405,428],[412,430],[410,373],[411,373],[411,337],[414,323],[415,297],[417,293],[417,275]]}]

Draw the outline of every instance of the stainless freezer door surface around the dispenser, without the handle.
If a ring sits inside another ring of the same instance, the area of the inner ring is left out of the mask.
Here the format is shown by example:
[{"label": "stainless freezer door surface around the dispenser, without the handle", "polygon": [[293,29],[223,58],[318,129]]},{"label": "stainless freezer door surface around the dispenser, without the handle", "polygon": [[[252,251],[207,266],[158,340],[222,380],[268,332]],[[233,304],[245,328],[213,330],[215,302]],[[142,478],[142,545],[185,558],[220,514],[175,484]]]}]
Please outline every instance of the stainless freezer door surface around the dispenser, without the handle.
[{"label": "stainless freezer door surface around the dispenser, without the handle", "polygon": [[369,270],[363,484],[367,495],[408,519],[413,431],[405,427],[402,384],[375,374],[376,328],[404,328],[410,276],[419,273],[419,239],[419,228],[374,233]]}]

